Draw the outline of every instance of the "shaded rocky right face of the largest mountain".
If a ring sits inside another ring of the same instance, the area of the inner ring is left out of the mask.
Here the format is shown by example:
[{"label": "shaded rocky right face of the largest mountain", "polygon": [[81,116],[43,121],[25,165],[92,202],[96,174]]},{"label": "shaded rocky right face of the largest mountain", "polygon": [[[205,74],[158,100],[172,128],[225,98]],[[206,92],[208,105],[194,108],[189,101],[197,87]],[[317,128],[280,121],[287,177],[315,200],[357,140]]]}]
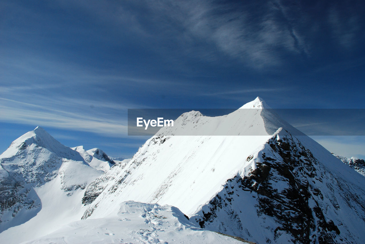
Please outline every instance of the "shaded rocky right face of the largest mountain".
[{"label": "shaded rocky right face of the largest mountain", "polygon": [[190,220],[258,243],[360,243],[353,233],[364,228],[364,189],[354,190],[287,131],[251,160],[257,168],[228,179]]}]

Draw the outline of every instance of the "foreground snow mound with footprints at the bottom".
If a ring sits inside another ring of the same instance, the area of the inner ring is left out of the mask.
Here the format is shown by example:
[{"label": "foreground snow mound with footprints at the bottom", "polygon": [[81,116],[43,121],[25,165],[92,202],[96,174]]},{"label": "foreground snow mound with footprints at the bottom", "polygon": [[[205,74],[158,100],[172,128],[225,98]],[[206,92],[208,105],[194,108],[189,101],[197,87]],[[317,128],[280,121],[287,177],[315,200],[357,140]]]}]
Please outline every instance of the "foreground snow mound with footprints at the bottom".
[{"label": "foreground snow mound with footprints at the bottom", "polygon": [[[45,237],[27,244],[245,244],[232,237],[206,231],[191,223],[176,207],[123,202],[118,214],[68,224]],[[25,244],[25,243],[24,243]]]}]

